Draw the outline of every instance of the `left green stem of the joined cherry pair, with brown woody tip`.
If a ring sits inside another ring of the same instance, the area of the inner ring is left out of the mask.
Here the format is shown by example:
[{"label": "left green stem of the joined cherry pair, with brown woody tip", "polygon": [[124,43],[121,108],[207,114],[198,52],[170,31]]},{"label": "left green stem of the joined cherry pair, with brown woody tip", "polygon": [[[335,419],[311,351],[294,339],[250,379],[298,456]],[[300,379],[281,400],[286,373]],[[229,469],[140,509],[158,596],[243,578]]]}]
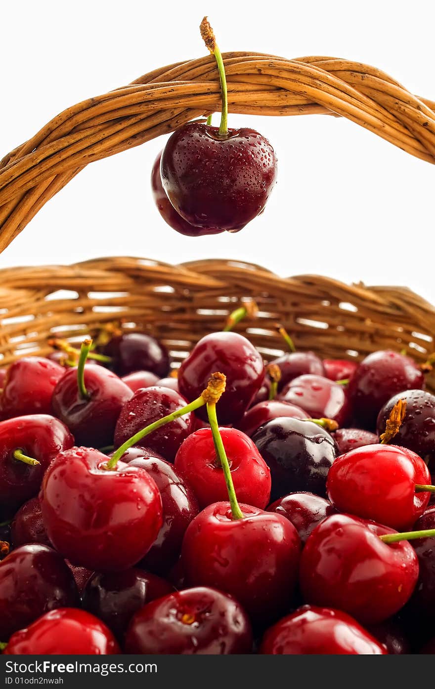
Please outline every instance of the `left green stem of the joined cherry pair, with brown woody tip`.
[{"label": "left green stem of the joined cherry pair, with brown woody tip", "polygon": [[201,393],[199,398],[196,398],[196,400],[190,402],[190,404],[187,404],[185,407],[176,409],[176,411],[173,411],[172,413],[163,416],[161,419],[154,421],[152,424],[145,426],[144,429],[132,435],[132,437],[128,438],[128,440],[125,440],[125,442],[119,446],[117,451],[113,453],[107,464],[105,464],[105,469],[108,469],[109,471],[114,469],[122,455],[127,452],[130,447],[136,445],[136,443],[145,438],[146,435],[150,435],[152,431],[156,431],[156,429],[161,428],[161,426],[169,424],[171,421],[178,419],[179,416],[184,416],[185,414],[189,414],[191,411],[199,409],[199,407],[203,407],[204,404],[208,404],[208,402],[216,403],[225,391],[226,380],[227,379],[223,373],[212,373],[212,376],[208,381],[208,386]]}]

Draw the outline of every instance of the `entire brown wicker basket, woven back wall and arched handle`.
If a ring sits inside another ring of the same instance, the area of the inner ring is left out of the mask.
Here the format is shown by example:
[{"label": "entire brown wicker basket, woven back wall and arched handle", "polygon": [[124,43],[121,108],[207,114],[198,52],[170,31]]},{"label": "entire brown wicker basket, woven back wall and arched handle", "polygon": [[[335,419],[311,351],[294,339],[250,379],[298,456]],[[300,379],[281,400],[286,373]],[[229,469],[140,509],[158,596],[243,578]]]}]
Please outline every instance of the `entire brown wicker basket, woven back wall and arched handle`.
[{"label": "entire brown wicker basket, woven back wall and arched handle", "polygon": [[[409,154],[435,163],[435,103],[383,72],[330,57],[285,60],[224,54],[230,112],[345,116]],[[212,56],[145,74],[128,86],[70,107],[0,163],[0,251],[85,165],[219,110]],[[318,276],[279,278],[231,260],[172,266],[101,258],[72,266],[0,271],[0,359],[47,353],[57,335],[80,340],[102,324],[152,332],[181,360],[221,327],[243,298],[260,311],[244,321],[265,358],[281,352],[276,320],[296,346],[323,356],[361,358],[379,348],[424,361],[435,349],[435,309],[402,287],[343,285]],[[435,387],[435,376],[429,378]]]}]

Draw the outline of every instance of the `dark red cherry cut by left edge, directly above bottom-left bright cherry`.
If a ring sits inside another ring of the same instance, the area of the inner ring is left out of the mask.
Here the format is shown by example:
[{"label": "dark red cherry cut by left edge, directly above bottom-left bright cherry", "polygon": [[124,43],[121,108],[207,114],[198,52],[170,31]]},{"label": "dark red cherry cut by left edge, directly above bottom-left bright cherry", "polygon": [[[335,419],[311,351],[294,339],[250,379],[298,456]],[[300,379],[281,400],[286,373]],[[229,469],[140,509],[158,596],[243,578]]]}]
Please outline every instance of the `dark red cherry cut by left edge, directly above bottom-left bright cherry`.
[{"label": "dark red cherry cut by left edge, directly above bottom-left bright cherry", "polygon": [[52,548],[20,546],[0,562],[0,637],[4,641],[48,610],[78,604],[74,577]]}]

